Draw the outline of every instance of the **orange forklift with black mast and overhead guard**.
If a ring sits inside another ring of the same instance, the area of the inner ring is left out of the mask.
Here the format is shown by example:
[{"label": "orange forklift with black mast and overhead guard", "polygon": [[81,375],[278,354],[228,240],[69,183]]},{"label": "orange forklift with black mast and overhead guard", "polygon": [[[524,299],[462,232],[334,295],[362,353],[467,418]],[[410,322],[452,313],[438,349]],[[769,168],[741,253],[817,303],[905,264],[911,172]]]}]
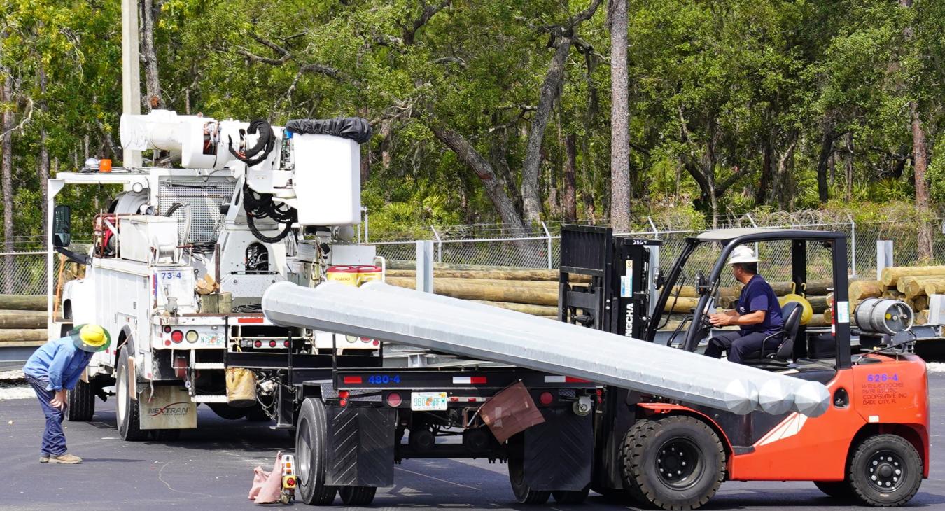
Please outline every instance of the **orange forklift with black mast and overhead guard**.
[{"label": "orange forklift with black mast and overhead guard", "polygon": [[[785,304],[779,348],[747,360],[824,383],[833,396],[830,408],[820,417],[738,416],[606,386],[594,414],[590,487],[659,509],[696,509],[725,481],[812,481],[836,498],[873,506],[908,502],[929,476],[925,363],[914,354],[915,336],[908,329],[851,330],[844,233],[710,230],[687,238],[663,274],[657,268],[659,241],[614,236],[609,228],[565,226],[559,318],[626,335],[627,342],[701,351],[713,335],[707,315],[715,311],[720,283],[730,278],[726,261],[742,245],[768,246],[785,258],[789,251],[797,290],[805,288],[809,270],[833,274],[833,324],[822,332],[807,329],[797,304]],[[713,262],[708,277],[702,271],[688,275],[687,263],[700,262]],[[761,268],[764,274],[764,261]],[[577,275],[590,276],[590,285],[573,283]],[[664,307],[679,299],[684,285],[694,284],[695,309],[675,330],[662,331]],[[877,314],[882,321],[883,312]],[[861,340],[856,349],[854,334]]]}]

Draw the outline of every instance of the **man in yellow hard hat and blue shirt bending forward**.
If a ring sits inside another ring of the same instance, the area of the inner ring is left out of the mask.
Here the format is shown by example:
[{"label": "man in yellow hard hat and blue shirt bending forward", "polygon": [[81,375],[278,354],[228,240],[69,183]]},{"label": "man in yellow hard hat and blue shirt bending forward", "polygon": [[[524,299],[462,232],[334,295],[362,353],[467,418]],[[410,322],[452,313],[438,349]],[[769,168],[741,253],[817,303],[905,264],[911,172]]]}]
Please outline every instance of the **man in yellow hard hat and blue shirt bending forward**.
[{"label": "man in yellow hard hat and blue shirt bending forward", "polygon": [[67,406],[65,391],[76,387],[94,352],[107,349],[110,344],[112,338],[102,327],[79,325],[69,335],[34,351],[23,366],[26,381],[36,391],[46,416],[40,463],[75,465],[82,462],[82,458],[66,451],[62,433]]}]

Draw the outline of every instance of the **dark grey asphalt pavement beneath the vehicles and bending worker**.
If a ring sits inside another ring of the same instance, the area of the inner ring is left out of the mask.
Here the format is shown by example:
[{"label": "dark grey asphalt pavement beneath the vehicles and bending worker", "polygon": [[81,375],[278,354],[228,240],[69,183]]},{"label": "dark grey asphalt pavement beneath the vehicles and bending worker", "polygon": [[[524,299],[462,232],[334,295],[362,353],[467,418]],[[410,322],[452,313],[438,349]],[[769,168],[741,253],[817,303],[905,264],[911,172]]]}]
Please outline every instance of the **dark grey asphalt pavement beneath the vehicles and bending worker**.
[{"label": "dark grey asphalt pavement beneath the vehicles and bending worker", "polygon": [[[932,477],[922,483],[910,507],[945,509],[945,373],[930,374]],[[96,401],[94,421],[66,422],[69,451],[84,458],[77,466],[39,463],[43,415],[35,399],[0,400],[0,509],[249,509],[252,470],[272,467],[277,451],[291,452],[294,440],[281,431],[246,420],[216,417],[199,407],[196,431],[173,443],[122,441],[115,430],[114,404]],[[505,465],[485,460],[406,460],[395,483],[378,491],[372,509],[535,509],[512,498]],[[335,500],[337,507],[341,501]],[[307,508],[301,502],[295,506]],[[550,509],[635,509],[592,493],[581,506]],[[851,508],[824,496],[811,483],[725,483],[704,509],[790,511]]]}]

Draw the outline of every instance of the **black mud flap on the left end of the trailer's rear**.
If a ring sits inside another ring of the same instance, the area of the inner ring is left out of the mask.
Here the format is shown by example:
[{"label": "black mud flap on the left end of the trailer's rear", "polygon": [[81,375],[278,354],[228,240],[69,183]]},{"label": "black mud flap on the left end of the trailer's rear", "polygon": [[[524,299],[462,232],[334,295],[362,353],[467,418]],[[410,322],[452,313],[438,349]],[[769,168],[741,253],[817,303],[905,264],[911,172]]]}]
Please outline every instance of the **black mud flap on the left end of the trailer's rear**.
[{"label": "black mud flap on the left end of the trailer's rear", "polygon": [[394,484],[392,408],[329,407],[326,485]]}]

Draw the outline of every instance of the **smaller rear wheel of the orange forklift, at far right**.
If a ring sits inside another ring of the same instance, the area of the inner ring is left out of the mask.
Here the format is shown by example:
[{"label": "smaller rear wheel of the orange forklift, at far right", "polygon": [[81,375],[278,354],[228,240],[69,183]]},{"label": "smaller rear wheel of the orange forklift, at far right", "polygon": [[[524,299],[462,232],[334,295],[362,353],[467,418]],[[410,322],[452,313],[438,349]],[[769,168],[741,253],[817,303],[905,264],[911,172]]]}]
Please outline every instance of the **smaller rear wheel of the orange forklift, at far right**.
[{"label": "smaller rear wheel of the orange forklift, at far right", "polygon": [[861,442],[847,470],[855,497],[867,505],[902,505],[922,483],[919,452],[895,434],[877,434]]}]

